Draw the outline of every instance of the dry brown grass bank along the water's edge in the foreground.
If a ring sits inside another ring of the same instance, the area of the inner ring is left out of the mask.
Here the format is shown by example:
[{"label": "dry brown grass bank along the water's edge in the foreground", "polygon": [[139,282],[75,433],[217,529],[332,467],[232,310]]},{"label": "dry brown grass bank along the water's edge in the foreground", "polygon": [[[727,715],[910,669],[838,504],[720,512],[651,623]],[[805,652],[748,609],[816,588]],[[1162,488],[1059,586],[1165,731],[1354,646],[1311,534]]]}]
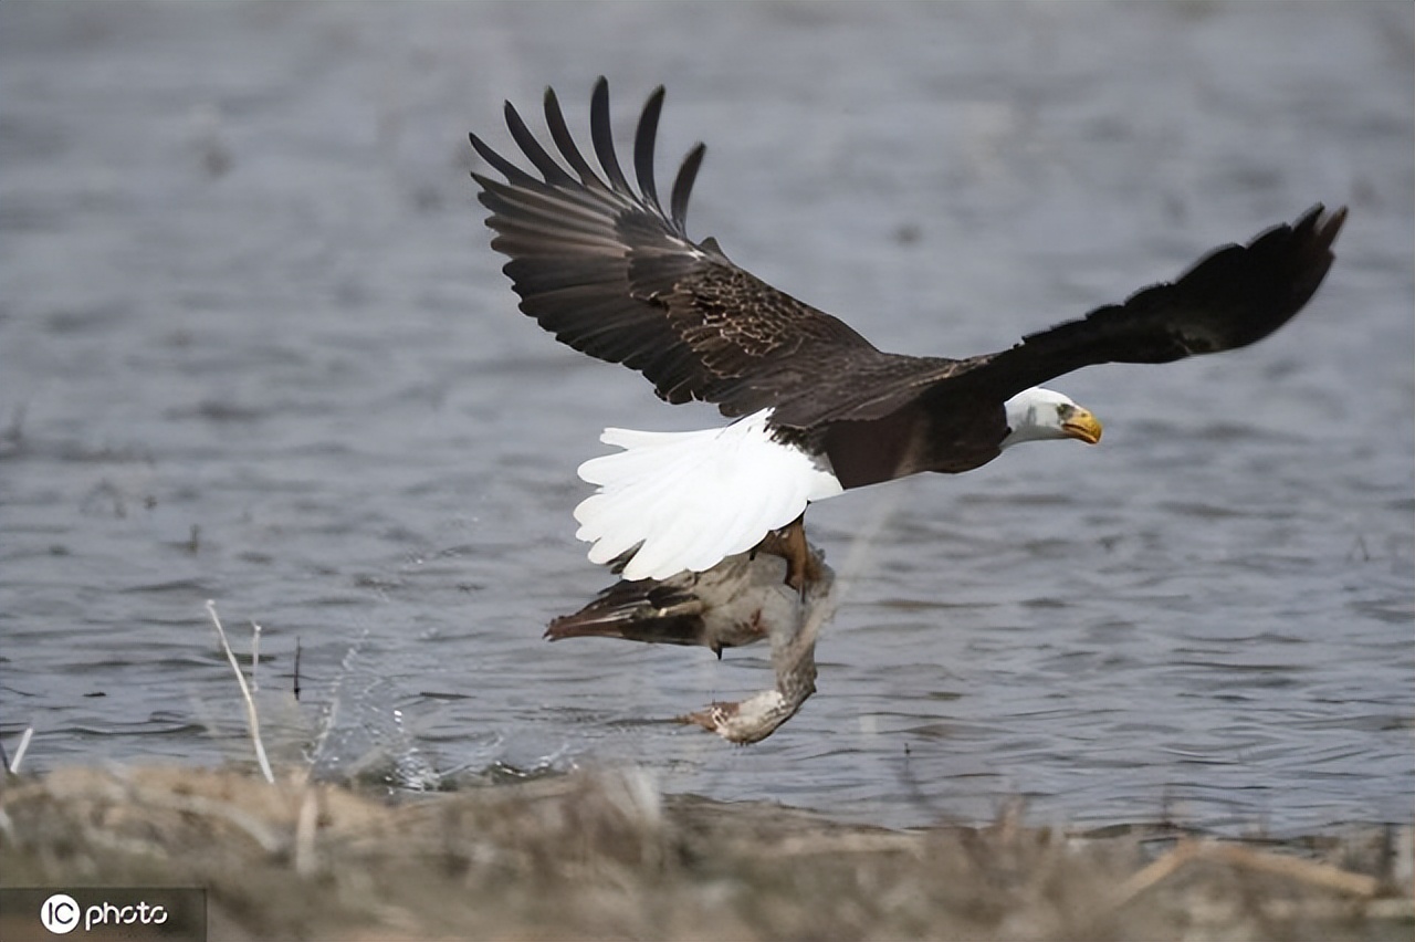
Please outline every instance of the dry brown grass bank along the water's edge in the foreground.
[{"label": "dry brown grass bank along the water's edge in the foreground", "polygon": [[633,769],[389,803],[303,777],[69,768],[11,778],[0,812],[6,885],[201,884],[212,939],[1408,939],[1415,925],[1409,829],[1395,849],[1381,830],[1305,847],[1087,837],[1015,813],[901,833],[664,796]]}]

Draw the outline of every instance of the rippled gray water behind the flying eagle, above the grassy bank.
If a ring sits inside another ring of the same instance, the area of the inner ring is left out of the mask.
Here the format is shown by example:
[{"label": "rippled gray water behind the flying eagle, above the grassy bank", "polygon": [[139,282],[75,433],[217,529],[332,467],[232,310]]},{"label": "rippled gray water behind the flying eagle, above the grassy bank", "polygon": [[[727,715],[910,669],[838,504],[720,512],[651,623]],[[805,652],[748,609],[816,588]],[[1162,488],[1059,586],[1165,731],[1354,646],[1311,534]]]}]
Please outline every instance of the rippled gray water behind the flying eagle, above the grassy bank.
[{"label": "rippled gray water behind the flying eagle, above the grassy bank", "polygon": [[[204,603],[265,628],[266,735],[408,781],[638,762],[907,826],[1408,820],[1409,4],[0,4],[0,734],[25,767],[249,760]],[[812,511],[819,693],[668,720],[766,649],[548,645],[608,576],[574,467],[703,427],[515,310],[467,171],[546,83],[691,231],[887,349],[966,355],[1350,204],[1247,351],[1051,385],[1107,423]],[[301,702],[289,706],[293,653]],[[338,704],[333,710],[333,704]],[[331,730],[316,747],[320,728]],[[286,761],[290,761],[289,758]]]}]

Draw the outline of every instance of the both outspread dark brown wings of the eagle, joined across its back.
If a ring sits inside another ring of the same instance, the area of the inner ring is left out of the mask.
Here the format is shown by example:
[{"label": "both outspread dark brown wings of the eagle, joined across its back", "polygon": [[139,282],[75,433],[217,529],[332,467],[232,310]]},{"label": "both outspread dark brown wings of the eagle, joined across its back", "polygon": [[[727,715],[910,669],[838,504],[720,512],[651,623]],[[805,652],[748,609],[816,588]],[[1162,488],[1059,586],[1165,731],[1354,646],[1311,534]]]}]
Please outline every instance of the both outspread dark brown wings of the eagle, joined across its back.
[{"label": "both outspread dark brown wings of the eagle, joined across its back", "polygon": [[574,349],[642,372],[668,402],[702,399],[727,416],[773,406],[774,424],[872,421],[910,403],[1003,400],[1105,362],[1163,364],[1247,347],[1290,320],[1332,266],[1346,208],[1322,205],[1247,246],[1215,249],[1173,283],[969,359],[882,354],[845,322],[734,266],[712,239],[688,238],[688,197],[703,146],[678,171],[669,212],[654,184],[664,89],[634,141],[635,192],[614,153],[608,86],[590,106],[603,177],[570,137],[549,89],[546,123],[569,173],[507,103],[507,124],[536,178],[471,136],[507,182],[473,174],[521,310]]}]

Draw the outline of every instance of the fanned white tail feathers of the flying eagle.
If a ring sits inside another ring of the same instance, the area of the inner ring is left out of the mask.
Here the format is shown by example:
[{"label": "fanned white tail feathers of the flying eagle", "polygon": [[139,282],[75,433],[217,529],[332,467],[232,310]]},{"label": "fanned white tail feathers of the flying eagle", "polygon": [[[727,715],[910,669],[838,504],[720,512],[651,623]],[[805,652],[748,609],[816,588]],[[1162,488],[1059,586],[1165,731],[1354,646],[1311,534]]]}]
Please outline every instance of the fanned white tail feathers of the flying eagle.
[{"label": "fanned white tail feathers of the flying eagle", "polygon": [[590,562],[638,546],[625,578],[700,573],[747,552],[808,502],[839,494],[821,458],[773,438],[770,416],[700,431],[606,429],[600,441],[624,450],[579,470],[600,485],[574,508],[576,536],[594,543]]}]

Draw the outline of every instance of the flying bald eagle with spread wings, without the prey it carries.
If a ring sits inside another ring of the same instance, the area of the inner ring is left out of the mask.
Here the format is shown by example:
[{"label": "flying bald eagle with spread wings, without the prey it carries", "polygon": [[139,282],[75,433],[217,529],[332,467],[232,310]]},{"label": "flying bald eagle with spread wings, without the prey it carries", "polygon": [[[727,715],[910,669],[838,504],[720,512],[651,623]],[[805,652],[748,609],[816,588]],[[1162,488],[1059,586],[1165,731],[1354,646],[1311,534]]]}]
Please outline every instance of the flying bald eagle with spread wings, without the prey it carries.
[{"label": "flying bald eagle with spread wings, without the prey it carries", "polygon": [[616,154],[603,78],[590,99],[599,170],[552,89],[545,119],[559,158],[505,103],[511,137],[536,173],[471,134],[505,178],[473,174],[521,310],[560,342],[641,372],[664,400],[716,403],[737,420],[682,433],[607,429],[601,440],[621,451],[580,465],[599,491],[576,508],[576,536],[596,563],[627,554],[630,580],[706,571],[766,540],[801,588],[812,578],[801,529],[812,501],[921,471],[969,471],[1022,441],[1094,444],[1099,421],[1040,383],[1094,364],[1165,364],[1262,339],[1316,291],[1346,219],[1344,208],[1319,204],[1248,245],[1214,249],[1173,283],[1005,351],[886,354],[733,264],[715,239],[688,236],[705,146],[688,151],[665,208],[654,180],[662,105],[658,88],[638,119],[637,190]]}]

